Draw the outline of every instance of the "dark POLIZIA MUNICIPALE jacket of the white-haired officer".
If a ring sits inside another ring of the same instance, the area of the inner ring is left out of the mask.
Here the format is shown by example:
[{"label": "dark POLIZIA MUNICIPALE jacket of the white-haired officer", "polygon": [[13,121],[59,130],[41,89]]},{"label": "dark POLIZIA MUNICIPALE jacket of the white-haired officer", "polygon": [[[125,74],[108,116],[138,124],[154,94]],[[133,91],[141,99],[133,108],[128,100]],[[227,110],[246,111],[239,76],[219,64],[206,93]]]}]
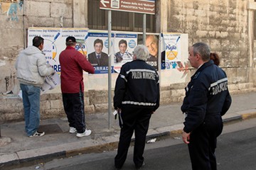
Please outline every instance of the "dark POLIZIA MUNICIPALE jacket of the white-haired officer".
[{"label": "dark POLIZIA MUNICIPALE jacket of the white-haired officer", "polygon": [[114,88],[114,108],[159,108],[159,75],[143,60],[122,65]]}]

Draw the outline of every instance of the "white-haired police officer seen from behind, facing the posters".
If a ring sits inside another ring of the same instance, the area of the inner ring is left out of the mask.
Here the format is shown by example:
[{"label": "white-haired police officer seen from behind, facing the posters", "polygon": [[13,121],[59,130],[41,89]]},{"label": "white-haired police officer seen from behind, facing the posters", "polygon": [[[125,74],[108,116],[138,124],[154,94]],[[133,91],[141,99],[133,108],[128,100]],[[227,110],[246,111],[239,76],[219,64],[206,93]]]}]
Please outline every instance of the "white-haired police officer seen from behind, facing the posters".
[{"label": "white-haired police officer seen from behind, facing the posters", "polygon": [[159,108],[159,76],[146,64],[149,50],[144,45],[134,49],[132,62],[122,65],[114,89],[114,109],[119,113],[121,132],[114,165],[121,169],[135,131],[133,161],[137,169],[144,165],[144,147],[151,114]]}]

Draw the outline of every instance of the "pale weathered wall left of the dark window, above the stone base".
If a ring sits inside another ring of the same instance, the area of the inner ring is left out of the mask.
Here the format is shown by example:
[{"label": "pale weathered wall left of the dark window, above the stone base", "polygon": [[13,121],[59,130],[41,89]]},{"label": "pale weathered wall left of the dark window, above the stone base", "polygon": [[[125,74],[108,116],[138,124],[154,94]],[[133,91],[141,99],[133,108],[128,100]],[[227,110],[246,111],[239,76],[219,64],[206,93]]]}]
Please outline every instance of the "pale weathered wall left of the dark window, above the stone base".
[{"label": "pale weathered wall left of the dark window, above the stone base", "polygon": [[26,47],[28,27],[72,28],[73,21],[80,23],[78,18],[73,18],[75,1],[77,0],[1,1],[0,93],[13,91],[16,94],[18,91],[14,63],[18,52]]}]

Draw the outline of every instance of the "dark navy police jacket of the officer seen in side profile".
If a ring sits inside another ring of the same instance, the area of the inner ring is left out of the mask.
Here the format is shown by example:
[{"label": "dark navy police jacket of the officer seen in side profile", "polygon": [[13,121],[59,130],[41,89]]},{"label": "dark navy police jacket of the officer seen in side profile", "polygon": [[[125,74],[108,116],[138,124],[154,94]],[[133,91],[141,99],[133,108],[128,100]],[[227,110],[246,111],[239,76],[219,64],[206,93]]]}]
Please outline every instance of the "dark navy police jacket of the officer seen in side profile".
[{"label": "dark navy police jacket of the officer seen in side profile", "polygon": [[204,63],[185,88],[181,111],[186,113],[184,132],[191,132],[208,115],[224,115],[231,105],[228,78],[220,67],[210,60]]}]

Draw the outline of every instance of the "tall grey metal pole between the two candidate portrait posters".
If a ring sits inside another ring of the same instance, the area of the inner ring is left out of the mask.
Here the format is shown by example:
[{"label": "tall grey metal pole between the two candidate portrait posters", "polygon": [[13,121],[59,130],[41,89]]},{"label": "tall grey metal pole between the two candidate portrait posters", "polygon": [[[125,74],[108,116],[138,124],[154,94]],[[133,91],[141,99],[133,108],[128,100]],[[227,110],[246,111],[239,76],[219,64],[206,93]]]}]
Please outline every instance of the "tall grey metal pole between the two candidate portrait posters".
[{"label": "tall grey metal pole between the two candidate portrait posters", "polygon": [[111,10],[107,11],[107,30],[108,30],[108,55],[109,55],[109,60],[108,60],[108,128],[110,130],[111,127],[111,113],[112,113],[112,97],[111,97]]}]

